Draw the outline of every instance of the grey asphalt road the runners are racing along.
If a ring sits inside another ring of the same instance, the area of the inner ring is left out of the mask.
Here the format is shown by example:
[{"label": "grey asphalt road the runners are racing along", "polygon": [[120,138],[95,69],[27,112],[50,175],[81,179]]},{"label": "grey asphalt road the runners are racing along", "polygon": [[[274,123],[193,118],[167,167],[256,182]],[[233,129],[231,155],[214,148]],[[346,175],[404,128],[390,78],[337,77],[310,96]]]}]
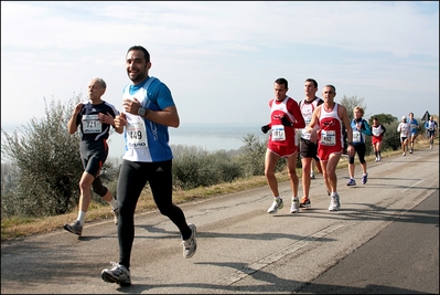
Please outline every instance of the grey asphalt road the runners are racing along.
[{"label": "grey asphalt road the runners are racing along", "polygon": [[[368,182],[347,187],[328,211],[322,176],[312,208],[291,214],[290,186],[276,215],[268,187],[182,204],[197,226],[197,252],[182,256],[176,228],[158,211],[136,217],[129,287],[101,281],[118,261],[111,219],[3,242],[2,294],[422,294],[439,293],[439,149],[368,162]],[[302,188],[300,186],[300,196]],[[66,220],[67,222],[67,220]]]}]

